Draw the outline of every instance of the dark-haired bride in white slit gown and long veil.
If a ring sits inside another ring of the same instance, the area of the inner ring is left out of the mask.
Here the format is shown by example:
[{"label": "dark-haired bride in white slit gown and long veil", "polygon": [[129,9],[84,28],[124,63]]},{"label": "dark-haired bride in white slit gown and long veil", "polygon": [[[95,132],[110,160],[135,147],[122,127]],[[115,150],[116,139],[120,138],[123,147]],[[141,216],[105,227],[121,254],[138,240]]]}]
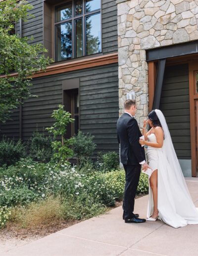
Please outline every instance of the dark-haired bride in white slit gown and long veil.
[{"label": "dark-haired bride in white slit gown and long veil", "polygon": [[[146,132],[146,126],[151,127]],[[149,177],[149,200],[147,220],[157,218],[178,228],[187,224],[198,224],[196,209],[188,191],[177,159],[169,129],[162,112],[152,110],[144,121],[141,145],[147,145],[148,165],[152,169]]]}]

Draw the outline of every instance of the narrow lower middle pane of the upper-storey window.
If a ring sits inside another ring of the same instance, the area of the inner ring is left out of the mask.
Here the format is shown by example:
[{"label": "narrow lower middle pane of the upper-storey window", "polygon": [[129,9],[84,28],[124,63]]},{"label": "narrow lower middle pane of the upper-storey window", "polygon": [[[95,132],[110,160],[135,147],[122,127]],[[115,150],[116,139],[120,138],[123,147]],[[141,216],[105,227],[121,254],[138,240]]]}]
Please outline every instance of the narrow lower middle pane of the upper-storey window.
[{"label": "narrow lower middle pane of the upper-storey window", "polygon": [[83,20],[75,20],[76,30],[76,57],[83,56]]}]

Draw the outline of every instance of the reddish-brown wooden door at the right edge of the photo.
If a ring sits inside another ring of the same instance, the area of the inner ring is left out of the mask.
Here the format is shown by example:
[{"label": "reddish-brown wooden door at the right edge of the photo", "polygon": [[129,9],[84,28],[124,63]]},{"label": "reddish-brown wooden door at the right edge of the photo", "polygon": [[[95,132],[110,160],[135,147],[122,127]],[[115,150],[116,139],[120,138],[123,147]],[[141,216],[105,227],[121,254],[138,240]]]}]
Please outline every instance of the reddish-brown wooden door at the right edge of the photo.
[{"label": "reddish-brown wooden door at the right edge of the photo", "polygon": [[189,63],[192,176],[198,177],[198,61]]}]

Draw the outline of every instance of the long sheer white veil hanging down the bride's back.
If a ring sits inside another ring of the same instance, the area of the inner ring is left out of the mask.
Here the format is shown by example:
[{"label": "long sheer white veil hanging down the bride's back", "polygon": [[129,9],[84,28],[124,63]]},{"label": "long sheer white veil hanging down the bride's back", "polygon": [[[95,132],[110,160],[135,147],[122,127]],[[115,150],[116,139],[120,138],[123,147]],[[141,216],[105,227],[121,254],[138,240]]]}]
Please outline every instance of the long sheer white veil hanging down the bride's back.
[{"label": "long sheer white veil hanging down the bride's back", "polygon": [[[177,155],[175,153],[175,149],[173,146],[173,142],[171,139],[171,135],[170,135],[168,126],[166,124],[165,117],[164,117],[163,113],[158,109],[155,109],[155,113],[156,113],[156,115],[161,123],[162,129],[164,131],[164,142],[163,142],[162,150],[163,150],[164,154],[166,155],[170,166],[172,167],[172,170],[173,170],[172,175],[174,175],[176,177],[177,182],[181,186],[181,188],[186,189],[186,192],[188,193],[189,197],[191,198],[190,192],[186,185],[186,181],[184,179],[184,175],[182,173],[182,169],[180,167]],[[171,179],[171,177],[169,177],[169,178]]]}]

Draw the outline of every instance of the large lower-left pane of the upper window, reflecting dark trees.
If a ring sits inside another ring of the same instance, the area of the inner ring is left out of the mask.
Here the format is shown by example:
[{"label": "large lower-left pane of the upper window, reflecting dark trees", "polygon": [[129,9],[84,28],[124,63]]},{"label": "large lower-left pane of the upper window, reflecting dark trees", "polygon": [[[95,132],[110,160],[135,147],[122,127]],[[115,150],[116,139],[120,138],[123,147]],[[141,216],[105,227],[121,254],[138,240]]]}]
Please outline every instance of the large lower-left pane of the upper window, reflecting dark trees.
[{"label": "large lower-left pane of the upper window, reflecting dark trees", "polygon": [[72,23],[56,26],[56,59],[57,61],[72,58]]}]

